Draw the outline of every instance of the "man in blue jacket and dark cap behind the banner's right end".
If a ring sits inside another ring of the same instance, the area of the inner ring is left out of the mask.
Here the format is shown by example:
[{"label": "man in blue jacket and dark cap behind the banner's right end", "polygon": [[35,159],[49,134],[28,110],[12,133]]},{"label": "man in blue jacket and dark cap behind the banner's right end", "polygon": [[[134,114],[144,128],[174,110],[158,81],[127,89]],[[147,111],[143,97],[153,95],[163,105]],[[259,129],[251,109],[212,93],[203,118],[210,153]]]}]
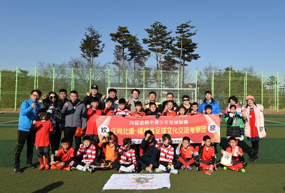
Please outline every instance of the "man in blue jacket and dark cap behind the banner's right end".
[{"label": "man in blue jacket and dark cap behind the banner's right end", "polygon": [[200,100],[198,112],[203,114],[205,112],[205,106],[211,105],[212,106],[212,114],[219,114],[221,116],[222,113],[221,113],[220,106],[217,103],[217,101],[215,101],[212,97],[213,97],[212,91],[206,90],[204,101]]}]

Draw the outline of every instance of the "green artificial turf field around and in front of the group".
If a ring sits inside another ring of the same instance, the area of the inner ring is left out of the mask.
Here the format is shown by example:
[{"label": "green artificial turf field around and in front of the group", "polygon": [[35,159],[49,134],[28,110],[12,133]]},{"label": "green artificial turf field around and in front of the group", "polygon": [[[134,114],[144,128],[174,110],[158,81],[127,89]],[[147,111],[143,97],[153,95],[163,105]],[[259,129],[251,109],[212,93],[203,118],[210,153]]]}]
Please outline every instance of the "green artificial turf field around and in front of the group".
[{"label": "green artificial turf field around and in front of the group", "polygon": [[[60,171],[26,168],[26,146],[21,154],[21,170],[13,170],[13,154],[16,147],[19,114],[0,114],[0,192],[101,192],[103,186],[116,170],[96,171],[93,174],[81,171]],[[212,175],[179,170],[170,174],[170,189],[156,190],[105,190],[104,192],[284,192],[285,191],[285,115],[265,115],[266,138],[260,142],[259,159],[249,163],[245,173],[224,171],[218,168]],[[221,123],[221,143],[218,144],[217,159],[221,149],[227,147],[226,127]],[[75,144],[75,143],[73,143]],[[240,146],[247,160],[251,156],[251,143],[246,139]],[[33,163],[39,167],[34,149]],[[141,173],[147,173],[142,171]]]}]

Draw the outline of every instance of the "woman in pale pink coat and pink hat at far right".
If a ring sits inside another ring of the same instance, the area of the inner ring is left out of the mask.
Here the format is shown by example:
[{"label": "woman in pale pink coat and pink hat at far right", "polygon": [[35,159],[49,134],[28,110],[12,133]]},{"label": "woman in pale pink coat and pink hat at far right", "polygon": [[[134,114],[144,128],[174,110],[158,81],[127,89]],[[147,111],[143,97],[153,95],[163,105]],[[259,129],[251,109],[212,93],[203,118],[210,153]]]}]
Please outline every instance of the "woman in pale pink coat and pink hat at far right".
[{"label": "woman in pale pink coat and pink hat at far right", "polygon": [[266,136],[264,128],[264,116],[262,105],[254,103],[254,97],[248,95],[246,97],[247,105],[242,107],[242,117],[246,121],[244,127],[244,136],[251,142],[252,157],[249,158],[250,162],[259,160],[259,141]]}]

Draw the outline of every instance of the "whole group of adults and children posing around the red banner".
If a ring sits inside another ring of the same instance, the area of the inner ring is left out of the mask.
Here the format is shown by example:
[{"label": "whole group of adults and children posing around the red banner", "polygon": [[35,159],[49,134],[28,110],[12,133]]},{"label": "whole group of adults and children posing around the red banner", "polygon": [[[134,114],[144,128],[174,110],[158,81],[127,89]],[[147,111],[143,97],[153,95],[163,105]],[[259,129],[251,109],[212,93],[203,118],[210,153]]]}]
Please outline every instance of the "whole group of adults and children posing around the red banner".
[{"label": "whole group of adults and children posing around the red banner", "polygon": [[[156,140],[152,131],[145,132],[145,138],[139,148],[132,145],[131,138],[124,138],[122,145],[115,142],[115,134],[108,132],[100,141],[95,129],[95,116],[203,116],[219,114],[222,116],[218,103],[212,98],[210,90],[205,91],[205,99],[199,103],[190,103],[188,95],[183,95],[183,103],[178,106],[174,102],[174,94],[168,92],[166,101],[162,104],[156,101],[156,93],[149,93],[150,102],[139,99],[140,91],[131,91],[132,99],[118,99],[117,90],[109,89],[109,97],[98,92],[98,86],[92,85],[91,93],[87,93],[83,101],[78,99],[77,91],[70,92],[67,99],[67,90],[61,89],[60,94],[49,92],[43,95],[43,107],[38,101],[42,95],[40,90],[32,90],[31,99],[21,105],[19,116],[19,130],[17,146],[14,153],[14,171],[21,173],[20,154],[23,145],[27,143],[27,167],[36,168],[32,164],[33,149],[37,147],[40,162],[39,170],[55,170],[53,164],[59,162],[62,170],[82,170],[95,172],[96,170],[116,169],[121,172],[168,172],[178,174],[178,169],[192,170],[194,165],[197,171],[209,170],[213,172],[220,166],[216,160],[216,143],[211,143],[209,136],[204,136],[201,144],[190,144],[190,136],[183,138],[179,144],[170,144],[171,136],[164,134]],[[233,96],[229,99],[229,107],[225,109],[224,117],[227,125],[226,135],[229,147],[225,151],[232,152],[233,146],[239,146],[243,136],[252,143],[252,157],[250,162],[258,160],[259,141],[266,136],[263,118],[263,106],[254,103],[254,98],[246,98],[247,105],[238,106],[238,99]],[[189,123],[191,124],[191,123]],[[86,130],[86,136],[75,135],[77,127]],[[64,138],[61,139],[62,132]],[[73,138],[75,148],[73,147]],[[60,144],[62,148],[59,149]],[[51,146],[51,155],[49,155]],[[132,149],[133,147],[133,149]],[[99,149],[102,153],[98,159]],[[223,150],[222,150],[223,153]],[[247,165],[241,147],[233,156],[232,165],[224,166],[224,170],[245,172]],[[176,155],[176,156],[175,156]],[[176,162],[177,160],[177,162]],[[50,165],[49,165],[50,163]]]}]

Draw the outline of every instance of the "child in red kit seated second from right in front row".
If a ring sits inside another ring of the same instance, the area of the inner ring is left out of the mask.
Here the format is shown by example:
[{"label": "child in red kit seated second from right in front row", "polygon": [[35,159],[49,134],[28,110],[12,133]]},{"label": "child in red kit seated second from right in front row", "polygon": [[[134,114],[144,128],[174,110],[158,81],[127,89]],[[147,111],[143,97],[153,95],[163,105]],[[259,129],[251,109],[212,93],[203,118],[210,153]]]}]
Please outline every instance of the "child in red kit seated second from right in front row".
[{"label": "child in red kit seated second from right in front row", "polygon": [[219,162],[215,158],[215,150],[211,146],[211,138],[209,136],[204,136],[202,144],[199,148],[200,159],[195,161],[195,166],[197,171],[209,170],[211,173],[213,170],[217,170],[219,167]]}]

